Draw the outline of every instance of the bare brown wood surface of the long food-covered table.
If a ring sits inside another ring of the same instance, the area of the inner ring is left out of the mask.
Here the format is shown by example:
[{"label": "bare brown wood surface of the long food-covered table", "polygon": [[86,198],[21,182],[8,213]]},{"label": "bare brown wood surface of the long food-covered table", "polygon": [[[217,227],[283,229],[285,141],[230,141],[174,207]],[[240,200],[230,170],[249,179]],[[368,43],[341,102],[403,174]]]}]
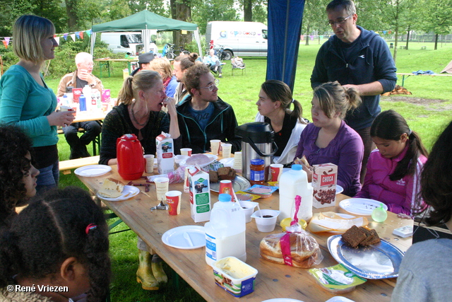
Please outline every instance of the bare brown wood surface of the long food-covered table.
[{"label": "bare brown wood surface of the long food-covered table", "polygon": [[[155,170],[157,174],[157,170]],[[150,175],[150,174],[145,174]],[[117,166],[112,166],[112,171],[98,177],[88,178],[80,177],[80,180],[93,192],[97,193],[102,187],[105,178],[114,178],[121,180],[126,184],[127,180],[117,173]],[[145,180],[133,180],[133,183],[144,183]],[[162,243],[162,235],[171,228],[186,225],[203,226],[205,222],[194,223],[190,216],[189,194],[182,193],[181,214],[177,216],[169,216],[167,211],[154,210],[150,207],[158,204],[155,192],[155,185],[150,184],[150,197],[143,193],[145,187],[138,187],[141,193],[131,199],[122,202],[107,202],[105,204],[112,209],[136,234],[138,234],[167,264],[174,269],[180,277],[198,291],[207,301],[234,301],[234,297],[228,294],[215,284],[213,279],[213,270],[206,264],[205,248],[196,250],[180,250],[171,248]],[[182,183],[170,184],[169,190],[179,190],[184,192]],[[338,213],[346,213],[338,207],[338,202],[347,198],[343,194],[338,194],[337,204],[335,207],[323,208],[321,211],[335,211]],[[211,202],[218,201],[218,194],[211,193]],[[261,209],[278,209],[279,194],[278,191],[273,197],[268,199],[258,199]],[[319,211],[314,209],[314,212]],[[388,212],[388,219],[385,223],[376,223],[372,221],[370,216],[367,219],[370,228],[375,228],[381,238],[388,240],[396,245],[400,250],[406,251],[411,245],[411,238],[398,238],[392,235],[394,228],[400,226],[412,225],[412,220],[399,219],[396,214]],[[279,223],[277,223],[275,231],[281,232]],[[308,273],[308,269],[300,269],[289,267],[287,265],[278,265],[261,259],[259,255],[259,243],[262,238],[270,233],[261,233],[256,228],[255,221],[246,223],[246,263],[258,270],[256,276],[254,292],[243,296],[240,301],[264,301],[270,298],[293,298],[304,302],[310,301],[326,301],[336,296],[328,291],[321,289],[316,281]],[[331,234],[319,233],[312,235],[316,238],[321,246],[324,259],[320,265],[315,267],[330,267],[336,265],[337,262],[328,252],[326,240]],[[349,294],[341,294],[352,299],[353,301],[391,301],[391,294],[396,279],[368,280],[366,283],[357,286],[355,291]]]}]

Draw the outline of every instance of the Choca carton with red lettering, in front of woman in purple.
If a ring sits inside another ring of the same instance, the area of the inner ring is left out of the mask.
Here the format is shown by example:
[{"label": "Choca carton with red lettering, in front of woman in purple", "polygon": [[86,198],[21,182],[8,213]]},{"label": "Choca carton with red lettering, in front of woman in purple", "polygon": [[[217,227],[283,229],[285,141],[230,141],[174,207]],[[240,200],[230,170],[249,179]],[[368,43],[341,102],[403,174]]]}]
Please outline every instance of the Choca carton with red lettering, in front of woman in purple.
[{"label": "Choca carton with red lettering, in front of woman in purple", "polygon": [[333,163],[322,163],[312,167],[312,187],[314,188],[312,205],[316,209],[335,206],[338,166]]}]

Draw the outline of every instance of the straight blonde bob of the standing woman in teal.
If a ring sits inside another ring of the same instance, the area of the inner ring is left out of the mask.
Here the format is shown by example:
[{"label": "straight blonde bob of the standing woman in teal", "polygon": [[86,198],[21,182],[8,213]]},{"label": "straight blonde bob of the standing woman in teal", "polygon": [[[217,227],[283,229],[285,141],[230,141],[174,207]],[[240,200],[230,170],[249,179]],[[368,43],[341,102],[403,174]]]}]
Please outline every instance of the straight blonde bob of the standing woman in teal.
[{"label": "straight blonde bob of the standing woman in teal", "polygon": [[20,16],[13,25],[13,52],[20,59],[41,64],[46,60],[41,40],[55,34],[54,23],[33,15]]}]

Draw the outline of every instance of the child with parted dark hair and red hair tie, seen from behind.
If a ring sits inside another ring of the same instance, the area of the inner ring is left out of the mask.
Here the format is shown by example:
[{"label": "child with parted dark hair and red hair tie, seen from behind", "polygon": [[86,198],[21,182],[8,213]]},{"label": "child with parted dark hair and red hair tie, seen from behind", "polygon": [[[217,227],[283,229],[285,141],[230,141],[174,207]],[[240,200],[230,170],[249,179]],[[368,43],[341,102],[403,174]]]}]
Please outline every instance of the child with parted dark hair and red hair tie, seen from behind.
[{"label": "child with parted dark hair and red hair tie, seen from behind", "polygon": [[50,190],[1,234],[0,301],[67,302],[86,292],[88,302],[105,301],[108,248],[104,214],[90,195],[78,187]]}]

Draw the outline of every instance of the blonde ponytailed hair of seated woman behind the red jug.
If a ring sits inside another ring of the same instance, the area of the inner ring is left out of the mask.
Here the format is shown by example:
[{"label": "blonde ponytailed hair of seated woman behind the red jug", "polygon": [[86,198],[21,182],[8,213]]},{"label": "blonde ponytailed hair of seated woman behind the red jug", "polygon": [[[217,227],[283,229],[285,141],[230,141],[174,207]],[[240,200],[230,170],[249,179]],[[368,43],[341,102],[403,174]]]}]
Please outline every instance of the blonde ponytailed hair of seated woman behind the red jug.
[{"label": "blonde ponytailed hair of seated woman behind the red jug", "polygon": [[133,99],[138,100],[139,91],[148,91],[153,88],[162,77],[157,71],[141,70],[135,76],[129,76],[124,80],[121,91],[119,91],[116,105],[123,103],[129,105]]}]

